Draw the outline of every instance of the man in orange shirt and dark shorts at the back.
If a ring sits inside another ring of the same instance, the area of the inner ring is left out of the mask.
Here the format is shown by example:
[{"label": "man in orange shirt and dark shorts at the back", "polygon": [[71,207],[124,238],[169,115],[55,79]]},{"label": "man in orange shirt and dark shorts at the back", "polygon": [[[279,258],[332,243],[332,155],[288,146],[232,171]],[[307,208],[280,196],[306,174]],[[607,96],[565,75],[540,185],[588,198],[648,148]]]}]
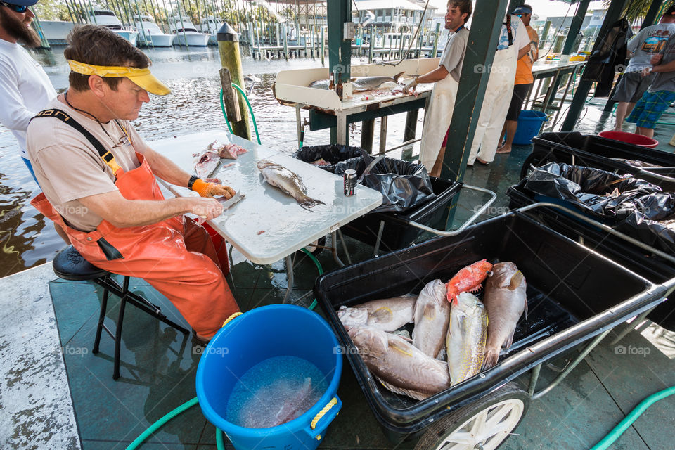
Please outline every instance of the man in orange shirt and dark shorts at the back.
[{"label": "man in orange shirt and dark shorts at the back", "polygon": [[518,8],[515,8],[515,11],[513,11],[513,15],[518,15],[520,20],[522,20],[522,23],[525,24],[525,30],[527,30],[530,39],[530,50],[525,53],[525,56],[518,60],[518,68],[515,72],[513,97],[511,98],[511,104],[508,107],[508,113],[506,114],[506,122],[504,122],[504,127],[501,131],[502,136],[506,133],[506,141],[504,141],[501,147],[497,148],[496,153],[510,153],[511,151],[513,136],[518,129],[518,117],[520,116],[522,102],[525,101],[525,96],[527,96],[529,89],[532,87],[532,83],[534,83],[532,65],[534,65],[536,58],[539,57],[539,36],[536,34],[536,30],[529,26],[529,22],[532,20],[532,6],[518,6]]}]

